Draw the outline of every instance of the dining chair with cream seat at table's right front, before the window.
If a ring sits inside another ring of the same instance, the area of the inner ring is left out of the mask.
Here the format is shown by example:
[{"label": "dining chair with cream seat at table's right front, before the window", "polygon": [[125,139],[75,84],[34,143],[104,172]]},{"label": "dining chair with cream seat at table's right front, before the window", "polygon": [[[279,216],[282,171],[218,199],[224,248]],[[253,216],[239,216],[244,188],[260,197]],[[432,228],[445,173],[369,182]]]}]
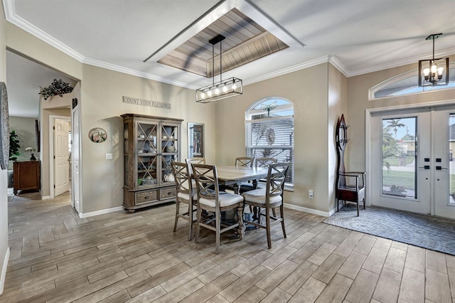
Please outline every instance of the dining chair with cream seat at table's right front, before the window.
[{"label": "dining chair with cream seat at table's right front, before the window", "polygon": [[[267,182],[265,188],[258,188],[253,191],[247,191],[242,193],[245,199],[245,206],[250,205],[258,209],[257,221],[255,220],[244,220],[246,224],[254,225],[258,228],[264,228],[267,230],[267,244],[269,248],[272,248],[272,239],[270,238],[270,219],[274,220],[274,223],[282,223],[283,235],[286,238],[286,230],[284,229],[284,209],[283,209],[283,193],[284,193],[284,181],[286,179],[287,171],[289,169],[289,162],[277,162],[269,165],[269,171],[267,172]],[[279,216],[270,214],[270,210],[279,207]],[[262,213],[262,209],[265,213]],[[265,217],[265,224],[261,223],[261,217]]]}]

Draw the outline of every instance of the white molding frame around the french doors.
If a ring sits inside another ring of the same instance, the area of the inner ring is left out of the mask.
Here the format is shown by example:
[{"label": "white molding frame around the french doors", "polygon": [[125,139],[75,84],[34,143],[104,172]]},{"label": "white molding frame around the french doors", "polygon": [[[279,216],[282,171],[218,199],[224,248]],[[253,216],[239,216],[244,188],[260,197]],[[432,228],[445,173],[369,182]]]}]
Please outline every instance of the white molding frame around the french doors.
[{"label": "white molding frame around the french doors", "polygon": [[[375,107],[375,108],[367,108],[365,109],[365,171],[367,171],[367,184],[370,184],[369,186],[374,186],[372,183],[372,157],[371,155],[371,134],[372,134],[372,125],[371,125],[371,119],[373,114],[378,114],[380,112],[390,112],[394,110],[416,110],[420,108],[429,108],[429,107],[440,107],[440,106],[449,106],[449,105],[455,105],[455,99],[449,99],[449,100],[442,100],[442,101],[437,101],[437,102],[424,102],[424,103],[418,103],[418,104],[407,104],[407,105],[392,105],[392,106],[387,106],[387,107]],[[367,191],[365,193],[365,200],[366,200],[366,206],[371,206],[371,199],[373,198],[373,195],[371,193],[371,190],[367,188]],[[432,206],[430,206],[431,211],[433,212],[434,209]]]}]

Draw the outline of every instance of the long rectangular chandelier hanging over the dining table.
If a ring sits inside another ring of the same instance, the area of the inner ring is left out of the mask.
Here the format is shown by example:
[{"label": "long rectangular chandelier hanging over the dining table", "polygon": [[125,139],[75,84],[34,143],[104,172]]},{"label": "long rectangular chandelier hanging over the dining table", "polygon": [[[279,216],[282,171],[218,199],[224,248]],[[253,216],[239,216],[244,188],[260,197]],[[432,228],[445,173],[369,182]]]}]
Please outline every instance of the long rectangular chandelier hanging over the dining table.
[{"label": "long rectangular chandelier hanging over the dining table", "polygon": [[[200,87],[198,90],[196,90],[196,102],[208,103],[222,100],[228,97],[233,97],[235,95],[242,95],[243,93],[242,80],[234,77],[225,80],[222,78],[223,60],[221,58],[221,41],[223,41],[225,38],[226,37],[223,35],[218,35],[208,41],[210,44],[212,44],[212,84]],[[220,81],[215,83],[215,44],[217,43],[220,43]]]}]

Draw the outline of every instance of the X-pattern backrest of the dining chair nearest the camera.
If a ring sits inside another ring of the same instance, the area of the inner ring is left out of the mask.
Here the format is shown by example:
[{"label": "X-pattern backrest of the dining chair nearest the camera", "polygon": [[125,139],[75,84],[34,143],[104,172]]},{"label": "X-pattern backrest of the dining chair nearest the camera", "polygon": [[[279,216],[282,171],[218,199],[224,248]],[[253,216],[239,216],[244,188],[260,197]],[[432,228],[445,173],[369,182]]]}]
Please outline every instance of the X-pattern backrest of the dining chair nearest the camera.
[{"label": "X-pattern backrest of the dining chair nearest the camera", "polygon": [[214,200],[215,207],[219,208],[216,166],[207,164],[191,164],[191,166],[193,168],[193,178],[196,180],[198,201],[200,198]]}]

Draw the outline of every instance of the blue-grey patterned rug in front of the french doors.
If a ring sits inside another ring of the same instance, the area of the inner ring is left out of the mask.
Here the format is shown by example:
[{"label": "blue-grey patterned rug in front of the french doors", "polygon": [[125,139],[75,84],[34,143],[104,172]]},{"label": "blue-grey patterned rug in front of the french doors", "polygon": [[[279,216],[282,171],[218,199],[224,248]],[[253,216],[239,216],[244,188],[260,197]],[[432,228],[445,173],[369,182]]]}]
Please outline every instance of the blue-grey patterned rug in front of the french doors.
[{"label": "blue-grey patterned rug in front of the french doors", "polygon": [[324,223],[455,255],[455,220],[348,204]]}]

